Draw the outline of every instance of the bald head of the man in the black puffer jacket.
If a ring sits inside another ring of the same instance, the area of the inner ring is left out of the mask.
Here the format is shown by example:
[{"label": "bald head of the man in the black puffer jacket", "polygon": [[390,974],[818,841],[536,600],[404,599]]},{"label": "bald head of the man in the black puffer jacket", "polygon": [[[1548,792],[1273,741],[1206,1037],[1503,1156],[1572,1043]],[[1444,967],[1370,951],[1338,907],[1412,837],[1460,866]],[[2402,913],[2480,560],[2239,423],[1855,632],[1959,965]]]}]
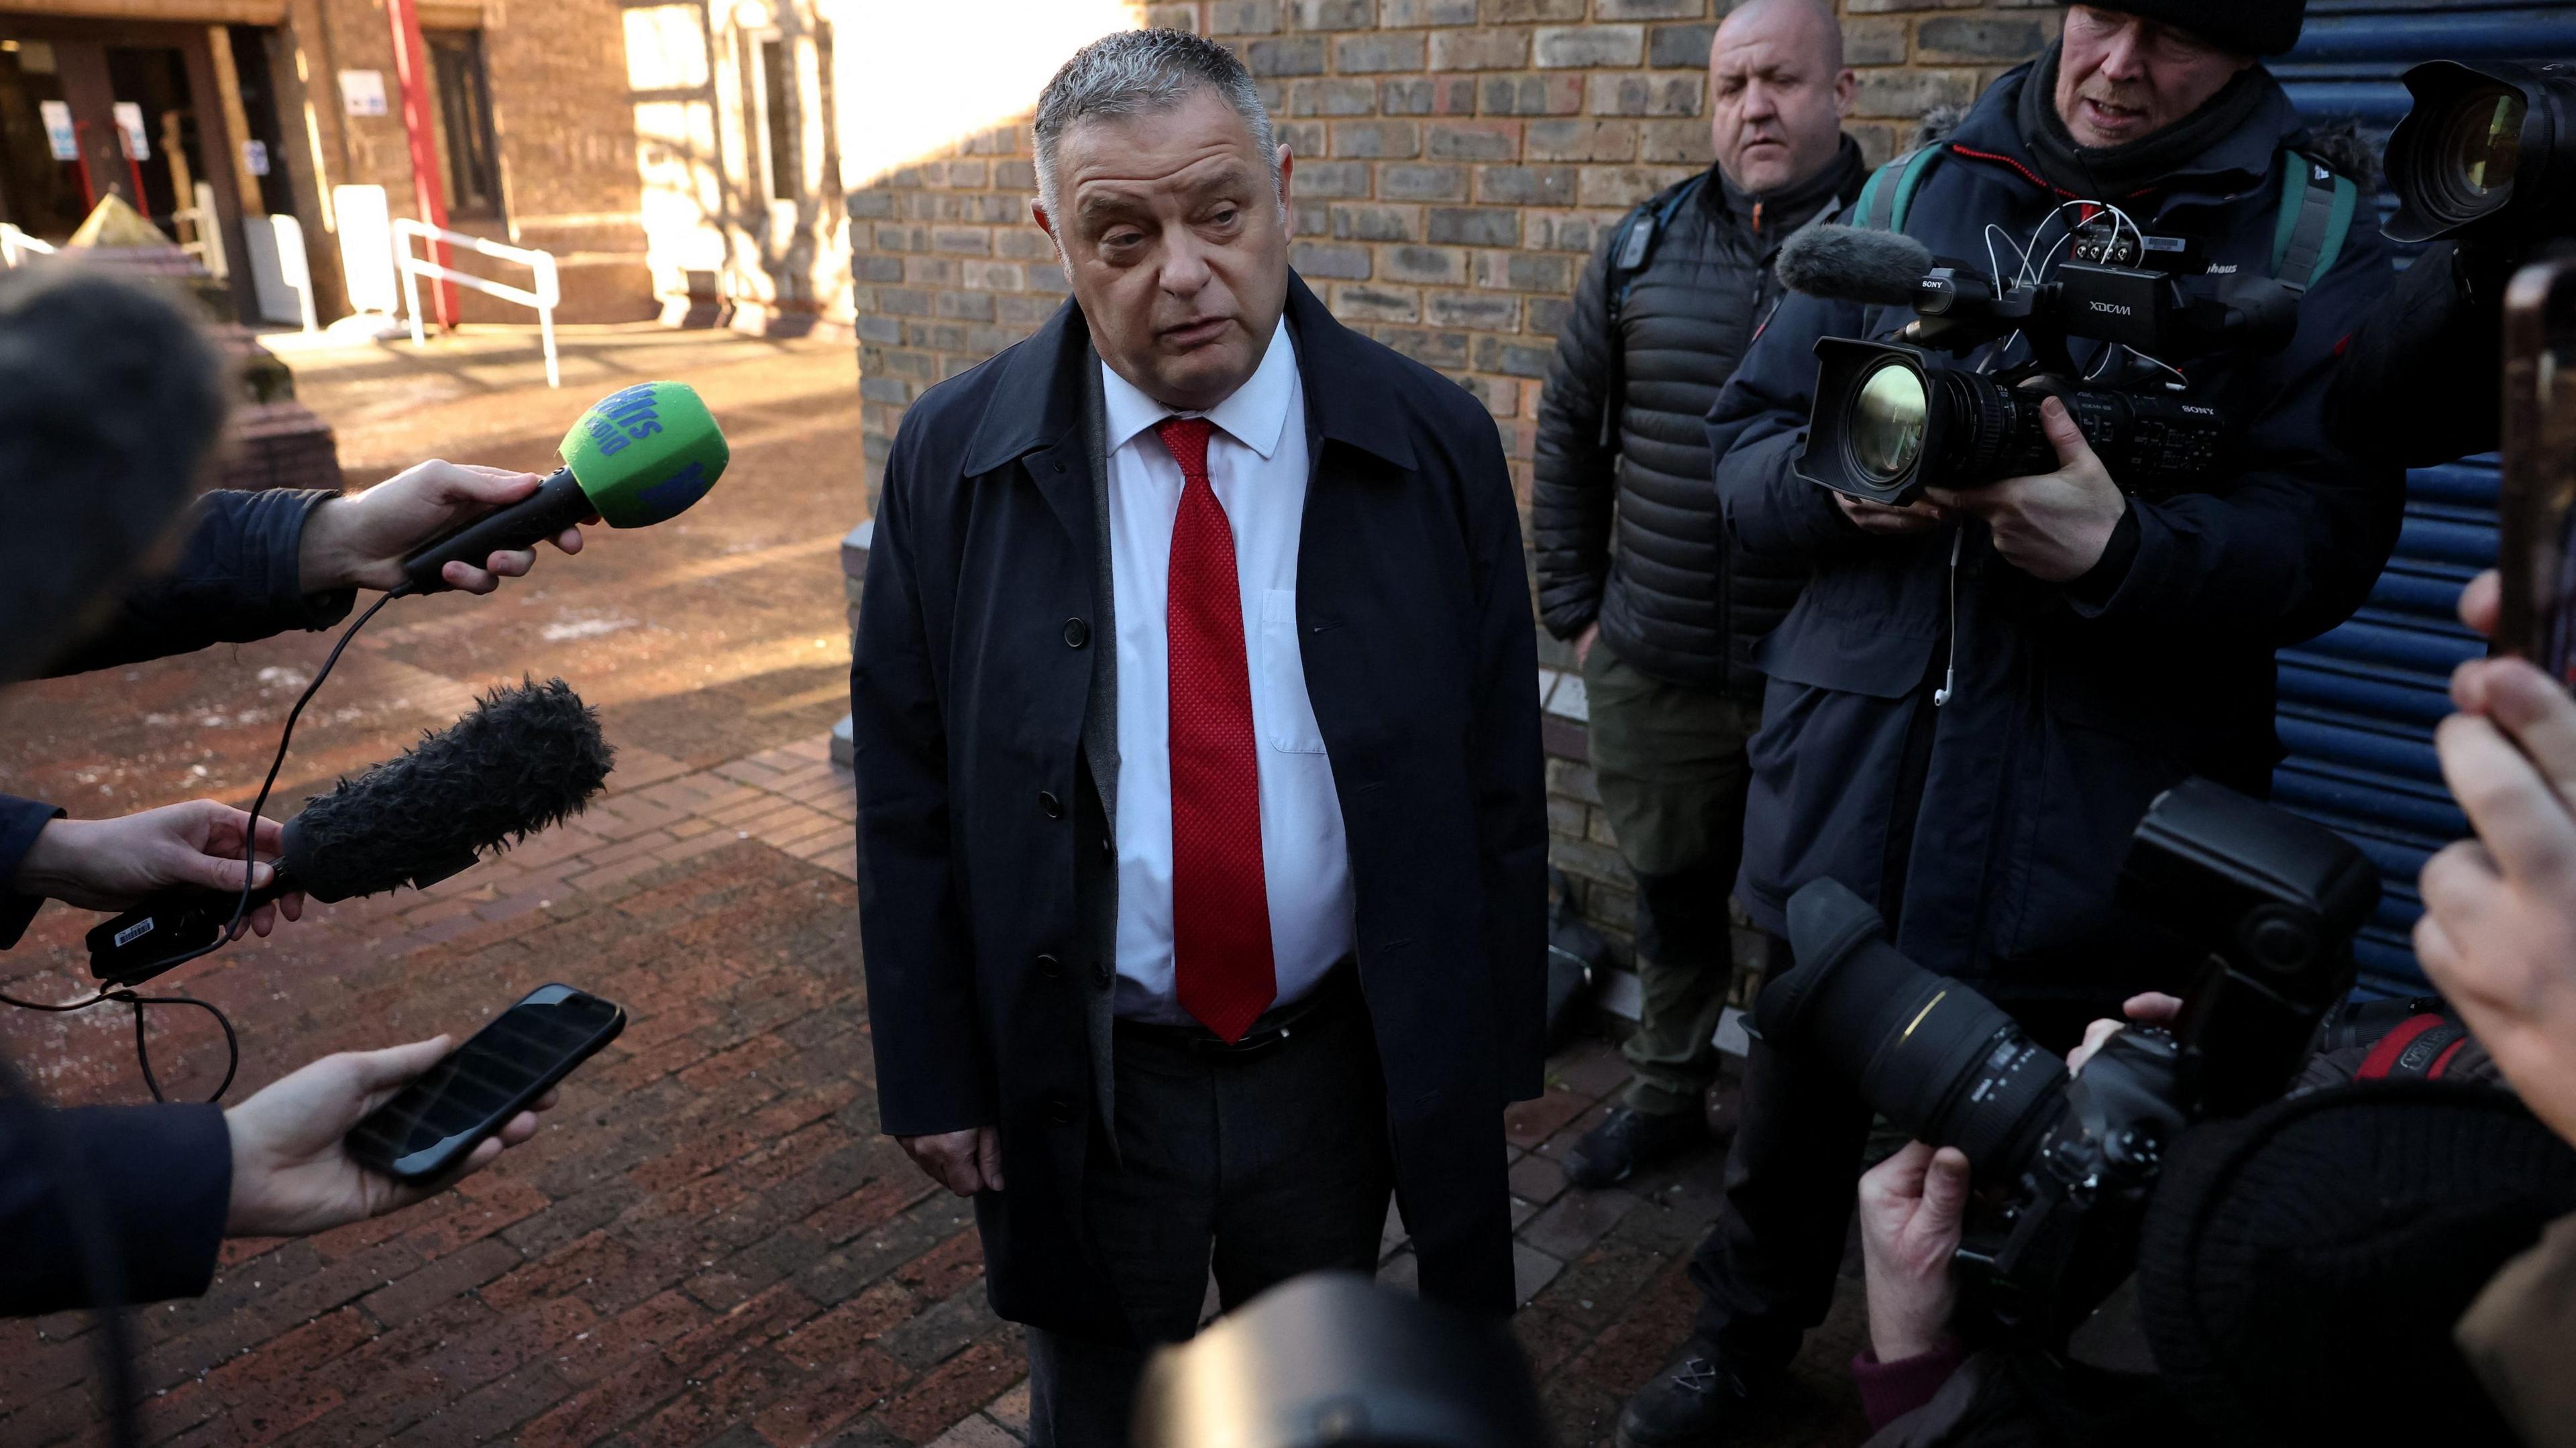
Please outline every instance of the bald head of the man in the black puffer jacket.
[{"label": "bald head of the man in the black puffer jacket", "polygon": [[1798,186],[1842,147],[1855,77],[1824,0],[1747,0],[1708,44],[1708,139],[1739,191]]}]

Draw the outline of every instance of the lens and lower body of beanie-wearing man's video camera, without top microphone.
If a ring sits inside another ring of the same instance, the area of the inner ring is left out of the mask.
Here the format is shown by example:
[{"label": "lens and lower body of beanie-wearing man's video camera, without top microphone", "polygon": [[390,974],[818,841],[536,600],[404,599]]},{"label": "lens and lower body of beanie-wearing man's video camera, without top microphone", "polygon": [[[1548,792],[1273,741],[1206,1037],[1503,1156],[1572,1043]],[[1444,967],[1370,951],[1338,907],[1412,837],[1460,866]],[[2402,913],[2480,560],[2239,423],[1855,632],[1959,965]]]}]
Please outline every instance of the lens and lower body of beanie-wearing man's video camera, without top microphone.
[{"label": "lens and lower body of beanie-wearing man's video camera, without top microphone", "polygon": [[2218,466],[2213,407],[2141,392],[2002,381],[1935,363],[1904,343],[1821,338],[1816,412],[1798,477],[1901,508],[1924,487],[1981,487],[2058,469],[2040,402],[2066,405],[2084,441],[2130,492],[2192,487]]}]

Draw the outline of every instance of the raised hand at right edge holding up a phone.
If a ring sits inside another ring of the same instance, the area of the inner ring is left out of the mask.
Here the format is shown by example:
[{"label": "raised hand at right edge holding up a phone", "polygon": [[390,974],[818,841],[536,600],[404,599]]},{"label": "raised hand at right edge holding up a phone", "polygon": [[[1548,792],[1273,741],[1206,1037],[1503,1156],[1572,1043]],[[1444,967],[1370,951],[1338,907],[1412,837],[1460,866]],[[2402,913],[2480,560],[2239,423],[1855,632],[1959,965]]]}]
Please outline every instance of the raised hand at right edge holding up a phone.
[{"label": "raised hand at right edge holding up a phone", "polygon": [[[2460,598],[2491,634],[2496,575]],[[2424,974],[2553,1131],[2576,1141],[2576,698],[2524,660],[2470,660],[2434,732],[2478,830],[2424,863]]]}]

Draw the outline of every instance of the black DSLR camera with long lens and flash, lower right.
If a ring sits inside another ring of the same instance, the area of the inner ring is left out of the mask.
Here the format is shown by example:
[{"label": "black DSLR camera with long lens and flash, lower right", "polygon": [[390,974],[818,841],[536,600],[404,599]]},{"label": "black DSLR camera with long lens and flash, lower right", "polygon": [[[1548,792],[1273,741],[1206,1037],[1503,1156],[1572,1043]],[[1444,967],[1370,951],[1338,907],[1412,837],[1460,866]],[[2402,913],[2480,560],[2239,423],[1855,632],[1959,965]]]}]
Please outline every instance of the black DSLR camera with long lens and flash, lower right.
[{"label": "black DSLR camera with long lens and flash, lower right", "polygon": [[2380,894],[2342,835],[2192,778],[2146,812],[2120,902],[2174,935],[2190,989],[2172,1028],[2128,1028],[2069,1074],[1965,982],[1904,958],[1837,881],[1788,902],[1795,969],[1754,1023],[1814,1051],[1873,1110],[1968,1154],[1960,1299],[2058,1345],[2136,1268],[2166,1147],[2282,1095],[2352,989],[2352,935]]}]

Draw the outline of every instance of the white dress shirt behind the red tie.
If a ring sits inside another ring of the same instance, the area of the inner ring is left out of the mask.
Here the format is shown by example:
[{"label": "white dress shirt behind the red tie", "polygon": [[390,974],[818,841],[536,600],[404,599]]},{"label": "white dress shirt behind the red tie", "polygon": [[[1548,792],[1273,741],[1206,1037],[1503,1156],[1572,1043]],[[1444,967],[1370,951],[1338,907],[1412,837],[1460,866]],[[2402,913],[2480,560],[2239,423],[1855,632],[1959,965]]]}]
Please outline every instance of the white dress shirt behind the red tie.
[{"label": "white dress shirt behind the red tie", "polygon": [[[1167,603],[1180,464],[1154,435],[1175,410],[1100,366],[1108,402],[1110,585],[1118,613],[1118,997],[1128,1020],[1188,1025],[1172,982],[1172,696]],[[1262,366],[1213,410],[1208,487],[1234,526],[1252,732],[1260,734],[1262,884],[1273,1005],[1298,1000],[1352,943],[1350,848],[1296,636],[1306,523],[1306,386],[1283,319]]]}]

